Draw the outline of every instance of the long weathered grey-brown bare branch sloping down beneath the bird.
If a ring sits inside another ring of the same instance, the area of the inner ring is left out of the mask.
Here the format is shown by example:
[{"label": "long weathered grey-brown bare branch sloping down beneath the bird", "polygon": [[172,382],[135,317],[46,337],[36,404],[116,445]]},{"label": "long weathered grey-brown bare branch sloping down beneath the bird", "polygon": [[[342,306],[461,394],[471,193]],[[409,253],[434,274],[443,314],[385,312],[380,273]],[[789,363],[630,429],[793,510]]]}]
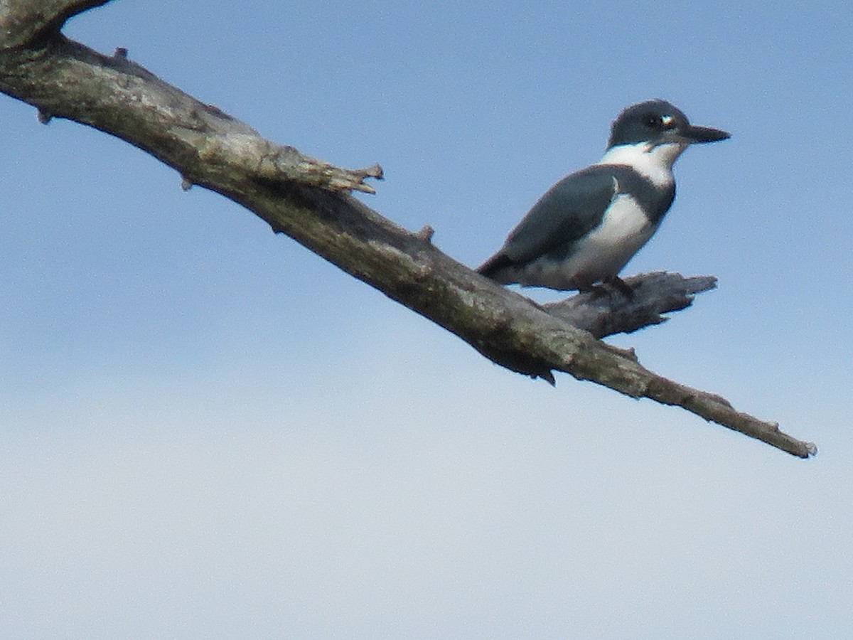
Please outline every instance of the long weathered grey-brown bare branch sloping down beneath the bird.
[{"label": "long weathered grey-brown bare branch sloping down beneath the bird", "polygon": [[[633,398],[681,406],[798,457],[815,452],[814,445],[780,433],[774,423],[656,375],[643,368],[633,352],[608,346],[562,319],[572,317],[599,335],[634,330],[661,322],[660,313],[689,304],[689,288],[668,302],[654,302],[663,285],[662,276],[652,276],[635,282],[635,300],[621,311],[618,305],[602,311],[596,307],[601,301],[580,299],[546,312],[438,251],[430,243],[430,229],[410,234],[347,194],[372,192],[364,180],[381,177],[379,166],[339,169],[271,143],[129,61],[126,51],[101,55],[58,32],[68,15],[96,4],[102,2],[0,4],[0,90],[38,108],[42,119],[73,119],[142,148],[174,167],[184,188],[198,184],[239,202],[273,230],[430,318],[508,369],[552,383],[552,371],[563,371]],[[38,11],[47,16],[41,26],[32,17]],[[578,314],[589,315],[589,309],[596,317],[609,314],[610,319],[577,319]]]}]

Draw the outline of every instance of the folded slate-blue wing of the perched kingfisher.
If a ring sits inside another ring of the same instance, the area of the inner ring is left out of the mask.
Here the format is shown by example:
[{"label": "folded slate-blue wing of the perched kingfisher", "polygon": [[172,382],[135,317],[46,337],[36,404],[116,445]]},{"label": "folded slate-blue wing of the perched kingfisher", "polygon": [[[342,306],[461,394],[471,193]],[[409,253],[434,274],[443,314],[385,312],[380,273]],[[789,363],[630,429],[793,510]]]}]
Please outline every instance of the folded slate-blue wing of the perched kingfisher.
[{"label": "folded slate-blue wing of the perched kingfisher", "polygon": [[590,166],[564,177],[533,205],[498,254],[519,264],[570,247],[601,223],[617,193],[612,167]]}]

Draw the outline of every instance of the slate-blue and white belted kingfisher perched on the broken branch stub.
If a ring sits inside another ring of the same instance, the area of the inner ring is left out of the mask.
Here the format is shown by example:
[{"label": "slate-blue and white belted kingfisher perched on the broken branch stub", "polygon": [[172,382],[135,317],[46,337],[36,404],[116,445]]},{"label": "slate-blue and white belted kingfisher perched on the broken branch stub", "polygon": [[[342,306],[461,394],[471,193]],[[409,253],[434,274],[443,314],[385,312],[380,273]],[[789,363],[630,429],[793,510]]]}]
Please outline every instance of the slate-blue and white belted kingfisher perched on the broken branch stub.
[{"label": "slate-blue and white belted kingfisher perched on the broken branch stub", "polygon": [[604,282],[630,294],[618,274],[676,197],[673,164],[693,143],[728,137],[663,100],[626,108],[604,157],[548,189],[477,271],[502,284],[590,291]]}]

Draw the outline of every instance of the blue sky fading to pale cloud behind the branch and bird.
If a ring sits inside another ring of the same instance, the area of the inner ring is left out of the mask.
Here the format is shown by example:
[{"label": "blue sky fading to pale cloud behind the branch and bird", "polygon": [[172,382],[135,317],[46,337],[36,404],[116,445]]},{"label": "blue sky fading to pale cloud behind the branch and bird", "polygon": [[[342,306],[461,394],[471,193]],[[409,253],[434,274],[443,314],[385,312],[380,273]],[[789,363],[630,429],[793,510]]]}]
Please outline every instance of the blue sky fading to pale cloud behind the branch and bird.
[{"label": "blue sky fading to pale cloud behind the branch and bird", "polygon": [[472,266],[631,103],[731,131],[623,272],[718,289],[609,341],[819,455],[501,369],[0,96],[0,636],[850,635],[849,3],[581,4],[116,0],[65,31],[379,162],[359,197]]}]

